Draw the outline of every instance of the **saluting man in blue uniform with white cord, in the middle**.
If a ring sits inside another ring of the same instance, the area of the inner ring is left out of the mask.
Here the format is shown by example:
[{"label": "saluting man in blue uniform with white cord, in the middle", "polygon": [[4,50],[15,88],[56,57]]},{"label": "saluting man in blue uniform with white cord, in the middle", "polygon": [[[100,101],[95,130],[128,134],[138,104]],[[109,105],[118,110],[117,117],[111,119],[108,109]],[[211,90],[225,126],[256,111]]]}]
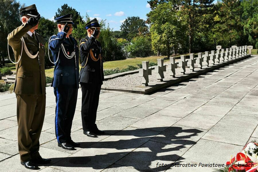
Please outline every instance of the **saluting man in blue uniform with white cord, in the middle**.
[{"label": "saluting man in blue uniform with white cord, in the middle", "polygon": [[79,89],[79,49],[77,41],[71,36],[72,14],[55,19],[58,34],[49,40],[49,49],[53,55],[54,78],[52,87],[56,96],[55,132],[58,146],[72,150],[79,143],[71,139],[71,128],[77,94]]}]

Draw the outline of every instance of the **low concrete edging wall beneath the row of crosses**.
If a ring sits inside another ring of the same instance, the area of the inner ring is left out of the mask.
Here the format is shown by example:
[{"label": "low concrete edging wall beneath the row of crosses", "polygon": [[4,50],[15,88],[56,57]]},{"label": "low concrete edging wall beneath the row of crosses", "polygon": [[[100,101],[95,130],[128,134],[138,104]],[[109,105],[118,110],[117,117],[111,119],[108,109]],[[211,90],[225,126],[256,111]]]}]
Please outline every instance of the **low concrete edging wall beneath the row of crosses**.
[{"label": "low concrete edging wall beneath the row of crosses", "polygon": [[187,73],[185,73],[185,75],[175,75],[176,76],[175,78],[172,78],[172,77],[171,78],[165,78],[165,79],[163,79],[163,82],[151,82],[151,83],[148,83],[149,86],[146,86],[146,87],[144,87],[144,86],[142,86],[142,87],[141,86],[139,86],[139,87],[116,87],[116,86],[102,85],[101,90],[122,91],[122,92],[129,92],[129,93],[138,93],[138,94],[148,94],[148,93],[151,93],[151,92],[156,91],[158,89],[169,87],[173,84],[180,83],[180,82],[182,82],[186,79],[190,79],[192,77],[201,75],[203,73],[207,73],[207,72],[212,71],[214,69],[226,66],[228,64],[231,64],[231,63],[234,63],[234,62],[237,62],[237,61],[243,60],[245,58],[249,58],[249,57],[251,57],[251,54],[247,54],[246,56],[238,57],[238,58],[235,58],[235,59],[228,60],[226,62],[215,64],[211,67],[204,67],[203,69],[196,69],[196,71],[187,72]]}]

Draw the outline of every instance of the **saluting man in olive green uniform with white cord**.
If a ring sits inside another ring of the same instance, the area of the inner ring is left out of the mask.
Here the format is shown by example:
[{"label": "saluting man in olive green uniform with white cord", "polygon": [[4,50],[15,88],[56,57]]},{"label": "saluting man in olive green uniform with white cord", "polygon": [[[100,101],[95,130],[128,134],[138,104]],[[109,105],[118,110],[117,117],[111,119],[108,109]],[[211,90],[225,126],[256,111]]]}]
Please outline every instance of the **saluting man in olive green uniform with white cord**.
[{"label": "saluting man in olive green uniform with white cord", "polygon": [[21,164],[37,169],[38,164],[51,161],[38,152],[46,106],[45,47],[43,38],[35,32],[40,19],[36,5],[21,8],[20,15],[23,24],[7,37],[16,60],[18,148]]}]

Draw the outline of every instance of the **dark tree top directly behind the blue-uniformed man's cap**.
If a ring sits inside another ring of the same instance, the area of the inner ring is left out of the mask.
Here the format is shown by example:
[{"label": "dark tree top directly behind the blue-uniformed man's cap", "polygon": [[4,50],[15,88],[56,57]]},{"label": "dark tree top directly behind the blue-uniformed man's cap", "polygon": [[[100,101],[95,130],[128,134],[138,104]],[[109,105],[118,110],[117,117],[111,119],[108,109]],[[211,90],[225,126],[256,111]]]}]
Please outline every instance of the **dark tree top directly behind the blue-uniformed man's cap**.
[{"label": "dark tree top directly behind the blue-uniformed man's cap", "polygon": [[79,22],[82,21],[82,17],[80,13],[76,11],[76,9],[69,7],[67,4],[62,5],[61,9],[60,8],[57,9],[57,12],[54,18],[60,17],[62,15],[66,15],[69,13],[73,14],[73,23],[74,23],[73,27],[77,28],[77,24],[79,24]]}]

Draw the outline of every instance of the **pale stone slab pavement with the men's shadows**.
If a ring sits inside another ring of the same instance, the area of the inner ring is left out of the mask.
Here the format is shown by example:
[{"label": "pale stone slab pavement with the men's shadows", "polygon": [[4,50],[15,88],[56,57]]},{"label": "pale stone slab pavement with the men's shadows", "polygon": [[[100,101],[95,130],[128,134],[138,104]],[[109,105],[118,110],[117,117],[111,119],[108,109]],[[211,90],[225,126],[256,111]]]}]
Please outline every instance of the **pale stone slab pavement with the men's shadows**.
[{"label": "pale stone slab pavement with the men's shadows", "polygon": [[[213,171],[250,140],[258,140],[258,56],[210,71],[151,95],[102,92],[97,126],[81,124],[81,90],[72,126],[76,150],[57,146],[55,98],[46,88],[40,154],[52,162],[38,171]],[[30,171],[19,163],[15,94],[0,95],[0,171]],[[175,164],[197,164],[178,167]]]}]

